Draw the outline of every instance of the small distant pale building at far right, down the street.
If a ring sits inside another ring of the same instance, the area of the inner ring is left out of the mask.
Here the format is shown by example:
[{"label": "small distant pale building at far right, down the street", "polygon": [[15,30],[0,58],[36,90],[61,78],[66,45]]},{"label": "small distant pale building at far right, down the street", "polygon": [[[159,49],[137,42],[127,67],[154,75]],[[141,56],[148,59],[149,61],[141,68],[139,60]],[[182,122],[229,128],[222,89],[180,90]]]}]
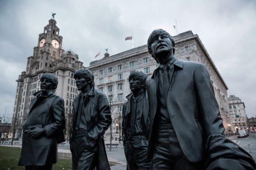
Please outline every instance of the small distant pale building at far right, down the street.
[{"label": "small distant pale building at far right, down the street", "polygon": [[245,112],[244,102],[234,95],[230,95],[228,98],[230,118],[233,126],[236,130],[247,129],[247,116]]}]

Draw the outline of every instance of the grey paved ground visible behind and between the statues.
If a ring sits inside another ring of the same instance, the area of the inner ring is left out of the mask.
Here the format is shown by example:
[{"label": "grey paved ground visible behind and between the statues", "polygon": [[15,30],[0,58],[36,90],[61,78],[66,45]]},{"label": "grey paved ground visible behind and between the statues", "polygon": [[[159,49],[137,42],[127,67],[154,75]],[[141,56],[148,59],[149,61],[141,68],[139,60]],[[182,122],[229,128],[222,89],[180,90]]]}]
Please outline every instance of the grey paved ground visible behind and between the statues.
[{"label": "grey paved ground visible behind and between the statues", "polygon": [[[246,150],[253,157],[254,161],[256,161],[256,133],[250,133],[250,135],[246,138],[233,138],[231,139],[236,144],[240,145],[244,150]],[[105,142],[108,143],[108,142]],[[114,142],[119,144],[118,142]],[[0,146],[11,146],[11,145],[0,145]],[[20,144],[13,145],[12,147],[21,147]],[[108,155],[108,161],[113,164],[116,164],[111,167],[111,170],[126,170],[126,159],[124,153],[124,147],[122,142],[118,145],[118,147],[107,148],[106,152]],[[58,146],[58,153],[67,153],[70,154],[70,146],[69,144],[65,144],[64,146]],[[62,157],[62,156],[61,156]]]}]

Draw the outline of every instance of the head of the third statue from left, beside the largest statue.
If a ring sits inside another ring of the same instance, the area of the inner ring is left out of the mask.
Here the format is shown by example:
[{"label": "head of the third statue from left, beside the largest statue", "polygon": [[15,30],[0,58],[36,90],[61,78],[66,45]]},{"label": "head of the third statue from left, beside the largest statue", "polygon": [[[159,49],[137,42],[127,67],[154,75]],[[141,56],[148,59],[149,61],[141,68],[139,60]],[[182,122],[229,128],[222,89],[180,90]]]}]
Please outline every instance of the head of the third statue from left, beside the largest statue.
[{"label": "head of the third statue from left, beside the largest statue", "polygon": [[147,75],[142,71],[133,71],[129,75],[129,84],[130,89],[134,93],[136,91],[140,91],[141,89],[146,90],[146,79]]}]

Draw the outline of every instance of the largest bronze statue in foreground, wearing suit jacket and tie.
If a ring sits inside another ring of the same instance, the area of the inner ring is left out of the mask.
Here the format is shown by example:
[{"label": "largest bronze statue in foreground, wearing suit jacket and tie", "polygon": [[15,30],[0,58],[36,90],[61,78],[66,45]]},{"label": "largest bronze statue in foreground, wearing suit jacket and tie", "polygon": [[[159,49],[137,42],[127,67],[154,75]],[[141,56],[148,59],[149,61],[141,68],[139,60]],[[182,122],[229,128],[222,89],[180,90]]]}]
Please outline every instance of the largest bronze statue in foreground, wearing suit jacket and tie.
[{"label": "largest bronze statue in foreground, wearing suit jacket and tie", "polygon": [[160,64],[146,81],[151,169],[255,169],[252,157],[222,136],[224,126],[206,67],[176,58],[175,41],[162,29],[148,37],[148,51]]}]

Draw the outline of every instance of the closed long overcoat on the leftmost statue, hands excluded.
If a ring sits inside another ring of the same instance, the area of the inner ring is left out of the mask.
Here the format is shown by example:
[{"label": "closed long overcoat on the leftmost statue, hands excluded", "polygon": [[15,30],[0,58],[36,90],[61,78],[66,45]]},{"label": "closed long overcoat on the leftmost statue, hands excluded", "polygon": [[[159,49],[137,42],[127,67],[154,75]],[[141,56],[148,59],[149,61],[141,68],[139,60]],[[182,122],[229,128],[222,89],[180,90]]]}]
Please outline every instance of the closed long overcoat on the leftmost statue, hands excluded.
[{"label": "closed long overcoat on the leftmost statue, hands excluded", "polygon": [[55,90],[48,90],[47,96],[41,91],[34,94],[29,105],[29,114],[23,124],[23,132],[29,126],[45,127],[44,135],[37,139],[23,133],[21,155],[18,165],[48,165],[57,162],[57,144],[64,142],[64,100]]}]

